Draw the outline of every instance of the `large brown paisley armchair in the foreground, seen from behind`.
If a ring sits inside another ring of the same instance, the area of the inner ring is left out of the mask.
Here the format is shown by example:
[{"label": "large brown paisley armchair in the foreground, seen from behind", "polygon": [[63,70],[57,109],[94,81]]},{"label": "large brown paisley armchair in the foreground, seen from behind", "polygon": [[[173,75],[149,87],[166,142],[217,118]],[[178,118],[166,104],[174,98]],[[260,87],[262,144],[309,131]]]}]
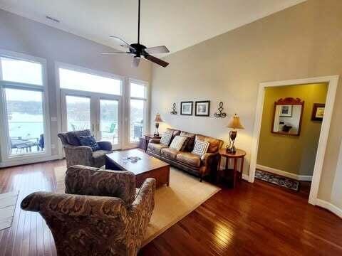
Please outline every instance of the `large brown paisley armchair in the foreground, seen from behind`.
[{"label": "large brown paisley armchair in the foreground, seen from behind", "polygon": [[135,188],[129,171],[73,166],[66,193],[35,192],[23,210],[46,220],[58,255],[136,255],[155,205],[155,179]]}]

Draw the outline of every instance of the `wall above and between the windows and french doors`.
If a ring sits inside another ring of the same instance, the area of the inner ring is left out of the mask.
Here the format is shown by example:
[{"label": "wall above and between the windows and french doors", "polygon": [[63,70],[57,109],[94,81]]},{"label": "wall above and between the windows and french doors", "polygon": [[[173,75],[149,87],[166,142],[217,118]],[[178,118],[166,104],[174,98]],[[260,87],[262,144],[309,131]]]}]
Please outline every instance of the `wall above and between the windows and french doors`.
[{"label": "wall above and between the windows and french doors", "polygon": [[[1,9],[0,49],[47,60],[50,117],[57,117],[58,112],[56,61],[145,81],[151,79],[151,65],[147,61],[142,61],[139,68],[133,68],[132,58],[126,55],[100,55],[100,52],[110,51],[113,48]],[[58,154],[58,125],[56,122],[51,122],[51,143],[55,145],[55,149],[52,149],[53,155]]]}]

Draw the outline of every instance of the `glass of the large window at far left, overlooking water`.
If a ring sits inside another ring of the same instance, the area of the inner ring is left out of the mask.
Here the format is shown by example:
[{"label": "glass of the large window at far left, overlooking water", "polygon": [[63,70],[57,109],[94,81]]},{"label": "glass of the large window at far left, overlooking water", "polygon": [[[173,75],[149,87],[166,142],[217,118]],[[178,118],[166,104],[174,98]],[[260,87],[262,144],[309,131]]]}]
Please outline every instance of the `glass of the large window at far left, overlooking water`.
[{"label": "glass of the large window at far left, overlooking water", "polygon": [[46,153],[46,106],[42,63],[0,54],[4,111],[1,147],[6,157]]}]

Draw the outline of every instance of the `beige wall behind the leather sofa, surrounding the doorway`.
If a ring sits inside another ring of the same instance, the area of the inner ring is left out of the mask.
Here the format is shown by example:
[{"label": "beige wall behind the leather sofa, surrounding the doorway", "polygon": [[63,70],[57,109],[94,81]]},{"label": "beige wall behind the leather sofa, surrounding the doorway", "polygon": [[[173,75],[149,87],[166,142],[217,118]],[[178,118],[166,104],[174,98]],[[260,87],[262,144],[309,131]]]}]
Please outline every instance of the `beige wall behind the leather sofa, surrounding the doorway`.
[{"label": "beige wall behind the leather sofa, surrounding the doorway", "polygon": [[[341,75],[341,14],[341,0],[309,0],[167,56],[167,68],[152,69],[151,114],[160,112],[162,129],[178,127],[227,142],[228,119],[213,117],[222,100],[224,112],[239,114],[246,128],[239,132],[237,146],[247,151],[247,174],[259,82]],[[181,100],[211,100],[211,116],[171,115],[172,102],[179,112]],[[318,192],[326,201],[336,174],[341,116],[342,80]],[[338,206],[342,208],[341,201]]]}]

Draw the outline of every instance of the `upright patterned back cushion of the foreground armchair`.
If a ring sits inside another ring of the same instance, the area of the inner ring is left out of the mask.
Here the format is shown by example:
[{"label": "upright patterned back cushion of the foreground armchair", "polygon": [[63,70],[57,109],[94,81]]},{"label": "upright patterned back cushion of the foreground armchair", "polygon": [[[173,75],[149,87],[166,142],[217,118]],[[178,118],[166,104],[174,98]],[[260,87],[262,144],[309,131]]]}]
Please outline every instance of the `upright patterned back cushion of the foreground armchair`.
[{"label": "upright patterned back cushion of the foreground armchair", "polygon": [[71,166],[66,171],[66,193],[87,196],[115,196],[131,204],[135,198],[135,175],[130,171],[109,171],[89,166]]}]

